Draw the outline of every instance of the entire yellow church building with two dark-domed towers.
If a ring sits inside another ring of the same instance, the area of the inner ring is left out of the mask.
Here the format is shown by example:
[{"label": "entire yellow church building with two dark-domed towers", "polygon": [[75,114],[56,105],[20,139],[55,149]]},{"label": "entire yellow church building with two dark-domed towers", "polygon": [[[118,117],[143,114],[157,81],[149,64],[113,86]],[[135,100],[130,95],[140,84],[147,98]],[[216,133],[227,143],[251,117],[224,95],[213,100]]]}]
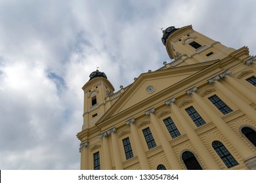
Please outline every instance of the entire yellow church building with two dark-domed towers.
[{"label": "entire yellow church building with two dark-domed towers", "polygon": [[83,86],[81,169],[256,169],[256,58],[191,25],[162,41],[175,60],[157,71]]}]

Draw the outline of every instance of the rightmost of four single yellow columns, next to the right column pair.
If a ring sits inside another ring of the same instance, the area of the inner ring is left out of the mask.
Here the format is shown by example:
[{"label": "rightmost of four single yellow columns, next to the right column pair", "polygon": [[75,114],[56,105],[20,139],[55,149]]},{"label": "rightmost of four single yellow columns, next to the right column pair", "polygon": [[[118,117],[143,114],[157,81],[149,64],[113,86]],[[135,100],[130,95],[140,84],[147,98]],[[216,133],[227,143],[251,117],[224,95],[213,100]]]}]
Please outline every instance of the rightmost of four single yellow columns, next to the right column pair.
[{"label": "rightmost of four single yellow columns, next to the right column pair", "polygon": [[[202,109],[207,116],[211,119],[211,122],[221,131],[221,133],[228,139],[230,144],[238,151],[242,158],[248,158],[255,156],[255,154],[244,144],[244,142],[232,131],[232,129],[223,121],[223,119],[213,110],[209,105],[196,93],[196,88],[193,88],[193,92],[187,92],[192,97],[194,103]],[[229,94],[229,93],[228,93]]]}]

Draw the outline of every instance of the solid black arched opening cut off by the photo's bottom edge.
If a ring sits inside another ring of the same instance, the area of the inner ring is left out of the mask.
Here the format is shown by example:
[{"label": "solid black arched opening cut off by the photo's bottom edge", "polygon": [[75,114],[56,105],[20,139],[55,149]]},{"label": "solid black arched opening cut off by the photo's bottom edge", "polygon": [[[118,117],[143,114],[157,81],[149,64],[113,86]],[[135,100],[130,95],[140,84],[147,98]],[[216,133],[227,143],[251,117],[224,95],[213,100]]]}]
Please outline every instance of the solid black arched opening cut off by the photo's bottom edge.
[{"label": "solid black arched opening cut off by the photo's bottom edge", "polygon": [[198,159],[194,156],[192,152],[186,151],[182,154],[182,160],[186,165],[188,170],[202,170],[202,167],[198,163]]}]

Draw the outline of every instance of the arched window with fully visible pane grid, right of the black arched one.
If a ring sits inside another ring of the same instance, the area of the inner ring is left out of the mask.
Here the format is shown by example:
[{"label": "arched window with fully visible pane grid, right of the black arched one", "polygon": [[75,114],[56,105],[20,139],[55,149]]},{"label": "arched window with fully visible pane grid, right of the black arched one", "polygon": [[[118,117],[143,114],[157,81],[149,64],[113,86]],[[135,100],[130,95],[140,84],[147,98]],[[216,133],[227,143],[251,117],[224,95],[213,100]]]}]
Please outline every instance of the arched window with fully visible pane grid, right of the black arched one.
[{"label": "arched window with fully visible pane grid, right of the black arched one", "polygon": [[228,152],[223,143],[219,141],[214,141],[212,143],[212,146],[219,155],[219,157],[223,160],[226,167],[230,168],[238,164],[238,162],[236,162],[236,159],[234,159],[233,156]]}]

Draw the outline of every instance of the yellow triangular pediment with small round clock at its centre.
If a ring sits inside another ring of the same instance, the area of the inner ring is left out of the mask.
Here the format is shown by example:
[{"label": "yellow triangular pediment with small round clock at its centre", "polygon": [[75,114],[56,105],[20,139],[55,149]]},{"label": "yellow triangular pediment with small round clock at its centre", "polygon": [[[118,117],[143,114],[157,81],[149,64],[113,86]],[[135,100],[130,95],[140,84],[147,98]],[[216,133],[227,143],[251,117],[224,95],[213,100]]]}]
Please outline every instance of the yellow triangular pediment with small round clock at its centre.
[{"label": "yellow triangular pediment with small round clock at its centre", "polygon": [[[185,80],[199,73],[207,67],[214,65],[218,61],[208,61],[205,63],[197,63],[194,65],[184,65],[181,67],[173,67],[161,71],[150,73],[142,73],[133,84],[117,99],[110,109],[98,120],[96,125],[101,124],[117,115],[122,115],[125,112],[137,110],[143,103],[151,103],[158,98],[158,95],[163,95],[163,92],[169,88],[182,87]],[[149,90],[147,90],[147,88]],[[136,109],[137,108],[137,109]],[[145,110],[146,111],[146,110]],[[160,116],[165,115],[160,114]],[[131,116],[132,118],[133,116]]]}]

